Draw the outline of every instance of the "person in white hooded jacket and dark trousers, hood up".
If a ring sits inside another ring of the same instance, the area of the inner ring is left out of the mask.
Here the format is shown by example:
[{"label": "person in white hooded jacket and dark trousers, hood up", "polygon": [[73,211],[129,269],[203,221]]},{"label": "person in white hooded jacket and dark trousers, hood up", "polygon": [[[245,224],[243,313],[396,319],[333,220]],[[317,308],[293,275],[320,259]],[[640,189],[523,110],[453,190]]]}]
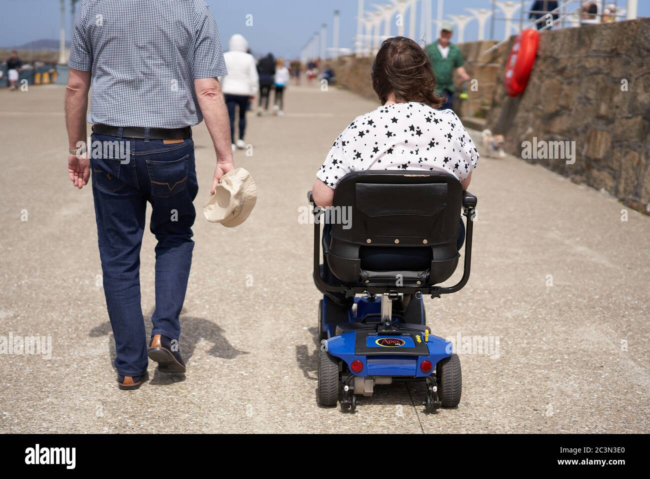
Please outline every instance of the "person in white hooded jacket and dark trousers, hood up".
[{"label": "person in white hooded jacket and dark trousers, hood up", "polygon": [[[253,55],[248,53],[248,42],[240,34],[230,37],[229,51],[224,53],[228,75],[222,77],[221,85],[226,98],[228,115],[230,116],[230,137],[233,151],[235,148],[246,148],[244,133],[246,133],[246,110],[248,102],[255,98],[259,79],[257,78],[257,63]],[[239,139],[235,141],[235,109],[239,107]]]}]

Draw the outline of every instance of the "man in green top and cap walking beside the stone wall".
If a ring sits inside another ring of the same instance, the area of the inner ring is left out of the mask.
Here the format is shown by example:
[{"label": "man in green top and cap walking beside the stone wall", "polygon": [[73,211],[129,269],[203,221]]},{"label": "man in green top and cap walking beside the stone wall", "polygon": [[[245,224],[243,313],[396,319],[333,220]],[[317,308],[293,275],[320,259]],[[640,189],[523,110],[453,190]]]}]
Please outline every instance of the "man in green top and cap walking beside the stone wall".
[{"label": "man in green top and cap walking beside the stone wall", "polygon": [[454,25],[445,21],[441,26],[440,38],[425,48],[434,68],[437,92],[447,96],[447,101],[440,107],[441,110],[454,109],[454,70],[458,70],[461,81],[469,81],[469,75],[463,68],[463,54],[460,53],[460,48],[450,42],[453,34]]}]

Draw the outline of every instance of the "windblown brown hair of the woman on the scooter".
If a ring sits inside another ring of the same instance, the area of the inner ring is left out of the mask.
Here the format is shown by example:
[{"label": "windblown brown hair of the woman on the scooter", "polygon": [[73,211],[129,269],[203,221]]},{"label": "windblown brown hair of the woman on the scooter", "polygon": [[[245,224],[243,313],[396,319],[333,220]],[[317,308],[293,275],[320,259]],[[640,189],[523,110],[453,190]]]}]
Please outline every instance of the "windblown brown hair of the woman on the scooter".
[{"label": "windblown brown hair of the woman on the scooter", "polygon": [[382,102],[393,93],[398,102],[420,102],[437,108],[444,103],[435,92],[435,75],[426,52],[410,38],[383,42],[372,64],[372,88]]}]

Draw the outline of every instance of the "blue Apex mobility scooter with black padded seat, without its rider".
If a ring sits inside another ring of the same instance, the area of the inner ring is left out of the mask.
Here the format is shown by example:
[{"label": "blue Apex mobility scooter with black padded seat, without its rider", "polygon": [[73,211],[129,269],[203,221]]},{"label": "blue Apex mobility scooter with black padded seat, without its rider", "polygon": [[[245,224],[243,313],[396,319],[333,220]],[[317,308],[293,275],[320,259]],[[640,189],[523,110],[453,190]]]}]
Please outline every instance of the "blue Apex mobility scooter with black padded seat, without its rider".
[{"label": "blue Apex mobility scooter with black padded seat, without its rider", "polygon": [[[318,404],[356,409],[375,385],[424,381],[430,413],[460,402],[461,371],[452,344],[426,325],[423,295],[459,291],[469,279],[476,197],[455,176],[434,171],[346,174],[333,206],[314,207],[314,281],[318,309]],[[466,223],[463,277],[458,236]],[[333,212],[347,221],[333,221]],[[329,218],[328,218],[329,216]],[[325,217],[325,221],[323,221]],[[320,223],[324,227],[320,264]],[[395,307],[394,307],[395,305]]]}]

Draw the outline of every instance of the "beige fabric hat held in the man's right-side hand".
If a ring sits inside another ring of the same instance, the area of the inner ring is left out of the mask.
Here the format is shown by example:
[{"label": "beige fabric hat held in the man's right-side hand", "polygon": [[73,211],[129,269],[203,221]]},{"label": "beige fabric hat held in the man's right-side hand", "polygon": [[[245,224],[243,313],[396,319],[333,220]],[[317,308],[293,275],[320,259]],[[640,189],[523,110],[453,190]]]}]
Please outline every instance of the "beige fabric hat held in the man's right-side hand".
[{"label": "beige fabric hat held in the man's right-side hand", "polygon": [[246,221],[257,201],[257,187],[250,173],[243,168],[227,172],[203,206],[203,215],[210,223],[228,228]]}]

